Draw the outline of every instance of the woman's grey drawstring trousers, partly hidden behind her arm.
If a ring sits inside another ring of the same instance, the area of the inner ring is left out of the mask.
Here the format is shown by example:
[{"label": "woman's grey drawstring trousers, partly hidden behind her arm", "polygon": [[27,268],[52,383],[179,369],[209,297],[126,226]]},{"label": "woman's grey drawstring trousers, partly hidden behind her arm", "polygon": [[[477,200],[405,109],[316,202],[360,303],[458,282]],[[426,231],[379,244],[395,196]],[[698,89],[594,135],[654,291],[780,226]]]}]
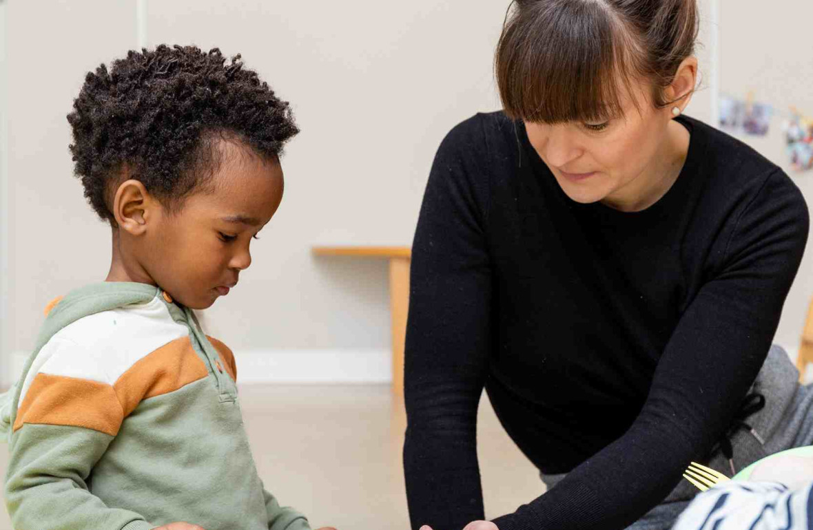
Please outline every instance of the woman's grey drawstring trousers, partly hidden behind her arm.
[{"label": "woman's grey drawstring trousers, partly hidden behind her arm", "polygon": [[[741,429],[732,439],[734,468],[737,471],[780,450],[813,445],[813,386],[799,385],[798,375],[798,370],[790,362],[785,350],[772,346],[753,388],[765,396],[765,407],[747,420],[757,436]],[[717,455],[709,466],[731,475],[731,465],[723,455]],[[566,474],[541,477],[550,489],[565,476]],[[661,504],[627,530],[672,528],[677,516],[689,506],[697,493],[698,489],[687,480],[682,480]]]}]

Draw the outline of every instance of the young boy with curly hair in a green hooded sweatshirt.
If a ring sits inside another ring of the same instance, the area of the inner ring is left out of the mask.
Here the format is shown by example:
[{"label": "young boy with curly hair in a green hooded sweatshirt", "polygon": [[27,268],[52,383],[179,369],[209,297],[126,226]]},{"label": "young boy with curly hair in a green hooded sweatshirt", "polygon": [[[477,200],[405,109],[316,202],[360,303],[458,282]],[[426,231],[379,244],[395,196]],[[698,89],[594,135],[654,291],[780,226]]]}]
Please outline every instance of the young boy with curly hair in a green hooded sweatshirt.
[{"label": "young boy with curly hair in a green hooded sweatshirt", "polygon": [[67,118],[112,261],[50,309],[10,394],[14,528],[310,528],[263,488],[232,352],[192,312],[280,204],[288,104],[239,55],[160,45],[88,73]]}]

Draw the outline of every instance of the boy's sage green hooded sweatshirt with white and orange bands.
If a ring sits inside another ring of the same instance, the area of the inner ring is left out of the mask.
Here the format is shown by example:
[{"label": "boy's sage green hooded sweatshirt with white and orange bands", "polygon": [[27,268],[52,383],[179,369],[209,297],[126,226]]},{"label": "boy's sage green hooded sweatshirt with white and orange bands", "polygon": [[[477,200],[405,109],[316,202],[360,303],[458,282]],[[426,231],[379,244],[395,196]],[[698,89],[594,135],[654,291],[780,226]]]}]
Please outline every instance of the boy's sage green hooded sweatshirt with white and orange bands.
[{"label": "boy's sage green hooded sweatshirt with white and orange bands", "polygon": [[7,394],[15,530],[309,530],[263,488],[236,376],[228,347],[158,288],[72,291]]}]

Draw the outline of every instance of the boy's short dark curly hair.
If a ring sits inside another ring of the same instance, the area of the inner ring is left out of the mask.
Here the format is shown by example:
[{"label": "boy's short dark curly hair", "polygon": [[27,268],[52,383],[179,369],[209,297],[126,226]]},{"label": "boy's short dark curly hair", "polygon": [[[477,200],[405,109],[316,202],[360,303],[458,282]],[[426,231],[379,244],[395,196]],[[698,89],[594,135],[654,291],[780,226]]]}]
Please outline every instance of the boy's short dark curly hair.
[{"label": "boy's short dark curly hair", "polygon": [[278,159],[299,129],[288,102],[240,59],[159,45],[85,75],[67,121],[76,176],[100,218],[115,224],[109,203],[122,175],[177,212],[220,163],[218,138]]}]

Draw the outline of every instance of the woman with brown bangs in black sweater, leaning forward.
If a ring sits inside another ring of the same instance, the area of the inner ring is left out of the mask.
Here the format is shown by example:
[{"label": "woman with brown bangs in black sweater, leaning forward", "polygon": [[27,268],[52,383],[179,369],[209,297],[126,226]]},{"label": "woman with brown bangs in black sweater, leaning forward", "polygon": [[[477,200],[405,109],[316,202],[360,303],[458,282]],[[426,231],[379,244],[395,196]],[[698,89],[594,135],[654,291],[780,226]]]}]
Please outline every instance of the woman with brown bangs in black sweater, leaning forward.
[{"label": "woman with brown bangs in black sweater, leaning forward", "polygon": [[669,528],[690,461],[730,473],[813,443],[813,393],[771,348],[805,201],[681,115],[697,20],[694,0],[515,2],[496,54],[504,110],[446,136],[415,233],[413,528],[484,519],[484,387],[549,490],[472,528]]}]

